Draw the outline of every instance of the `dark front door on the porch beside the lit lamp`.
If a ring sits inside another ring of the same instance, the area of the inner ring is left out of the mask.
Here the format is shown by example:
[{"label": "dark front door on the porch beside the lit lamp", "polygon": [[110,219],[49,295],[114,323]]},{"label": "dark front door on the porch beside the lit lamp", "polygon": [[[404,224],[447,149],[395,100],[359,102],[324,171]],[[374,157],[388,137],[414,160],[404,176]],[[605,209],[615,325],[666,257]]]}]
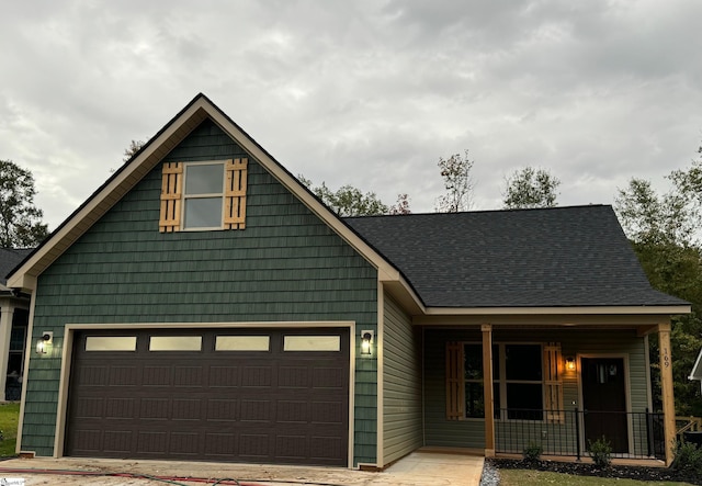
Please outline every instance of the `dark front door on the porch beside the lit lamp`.
[{"label": "dark front door on the porch beside the lit lamp", "polygon": [[586,447],[604,437],[612,452],[629,452],[624,360],[584,358],[581,363]]}]

